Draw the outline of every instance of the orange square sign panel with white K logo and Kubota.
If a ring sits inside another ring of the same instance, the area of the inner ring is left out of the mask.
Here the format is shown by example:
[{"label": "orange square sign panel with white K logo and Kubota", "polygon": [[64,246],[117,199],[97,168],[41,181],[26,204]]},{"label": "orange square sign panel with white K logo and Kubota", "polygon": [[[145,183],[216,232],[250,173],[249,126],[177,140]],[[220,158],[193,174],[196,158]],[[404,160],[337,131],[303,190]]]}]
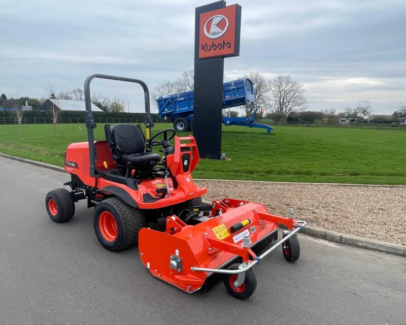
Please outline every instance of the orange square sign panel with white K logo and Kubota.
[{"label": "orange square sign panel with white K logo and Kubota", "polygon": [[200,14],[199,59],[239,55],[241,7],[238,12],[237,6]]}]

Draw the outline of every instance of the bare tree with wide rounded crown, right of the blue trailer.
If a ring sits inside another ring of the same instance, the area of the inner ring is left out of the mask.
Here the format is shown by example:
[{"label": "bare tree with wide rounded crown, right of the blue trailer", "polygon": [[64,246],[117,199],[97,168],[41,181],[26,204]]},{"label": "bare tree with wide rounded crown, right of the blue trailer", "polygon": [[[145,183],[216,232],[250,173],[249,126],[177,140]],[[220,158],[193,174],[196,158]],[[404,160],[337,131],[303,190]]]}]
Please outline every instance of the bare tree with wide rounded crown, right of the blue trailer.
[{"label": "bare tree with wide rounded crown, right of the blue trailer", "polygon": [[291,76],[278,76],[269,81],[270,101],[274,113],[283,113],[286,117],[290,112],[302,111],[307,107],[303,85],[294,81]]}]

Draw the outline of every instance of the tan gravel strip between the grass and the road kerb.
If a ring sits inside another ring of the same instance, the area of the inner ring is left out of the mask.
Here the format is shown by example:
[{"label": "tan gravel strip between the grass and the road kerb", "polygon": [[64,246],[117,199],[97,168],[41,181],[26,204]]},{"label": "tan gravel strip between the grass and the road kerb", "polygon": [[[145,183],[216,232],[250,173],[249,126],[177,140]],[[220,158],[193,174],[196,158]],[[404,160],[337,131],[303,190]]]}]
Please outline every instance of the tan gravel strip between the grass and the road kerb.
[{"label": "tan gravel strip between the grass and the road kerb", "polygon": [[234,198],[266,205],[270,213],[310,225],[406,245],[406,186],[345,186],[241,181],[195,181],[206,186],[206,200]]}]

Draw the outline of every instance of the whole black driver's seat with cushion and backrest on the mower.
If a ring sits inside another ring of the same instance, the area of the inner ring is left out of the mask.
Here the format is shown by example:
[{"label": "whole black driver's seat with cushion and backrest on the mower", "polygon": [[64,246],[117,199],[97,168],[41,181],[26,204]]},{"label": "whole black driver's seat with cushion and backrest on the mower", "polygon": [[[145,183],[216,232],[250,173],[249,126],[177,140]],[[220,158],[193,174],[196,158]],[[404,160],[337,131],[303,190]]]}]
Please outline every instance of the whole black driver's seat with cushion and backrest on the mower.
[{"label": "whole black driver's seat with cushion and backrest on the mower", "polygon": [[[126,166],[154,166],[161,156],[145,151],[145,138],[141,127],[133,124],[116,124],[110,128],[111,139],[106,139],[113,149],[114,159],[118,164]],[[110,141],[109,141],[110,140]]]}]

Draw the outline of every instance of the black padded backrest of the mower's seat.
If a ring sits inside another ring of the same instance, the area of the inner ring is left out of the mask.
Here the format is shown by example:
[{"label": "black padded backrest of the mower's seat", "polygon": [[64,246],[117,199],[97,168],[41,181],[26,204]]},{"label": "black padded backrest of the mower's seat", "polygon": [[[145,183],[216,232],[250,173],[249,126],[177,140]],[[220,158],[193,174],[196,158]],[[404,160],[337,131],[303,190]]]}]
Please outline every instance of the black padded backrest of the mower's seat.
[{"label": "black padded backrest of the mower's seat", "polygon": [[144,152],[145,139],[141,128],[133,124],[115,124],[110,131],[117,155]]}]

